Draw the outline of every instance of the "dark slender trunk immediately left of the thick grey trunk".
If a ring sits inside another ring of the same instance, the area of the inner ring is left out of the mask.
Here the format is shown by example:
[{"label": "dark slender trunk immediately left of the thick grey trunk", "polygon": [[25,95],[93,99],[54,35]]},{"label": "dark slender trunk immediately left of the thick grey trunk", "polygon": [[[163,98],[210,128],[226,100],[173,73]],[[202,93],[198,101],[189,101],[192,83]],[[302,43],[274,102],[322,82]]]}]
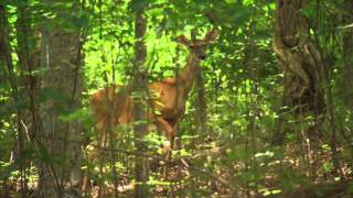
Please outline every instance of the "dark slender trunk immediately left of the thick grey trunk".
[{"label": "dark slender trunk immediately left of the thick grey trunk", "polygon": [[[26,1],[24,1],[26,2]],[[25,87],[21,92],[21,98],[29,103],[24,112],[23,124],[28,128],[28,133],[33,141],[38,131],[41,130],[40,117],[38,113],[39,77],[34,70],[40,66],[40,33],[32,25],[32,13],[26,3],[18,4],[17,40],[19,66],[23,70],[21,76],[21,87]]]}]

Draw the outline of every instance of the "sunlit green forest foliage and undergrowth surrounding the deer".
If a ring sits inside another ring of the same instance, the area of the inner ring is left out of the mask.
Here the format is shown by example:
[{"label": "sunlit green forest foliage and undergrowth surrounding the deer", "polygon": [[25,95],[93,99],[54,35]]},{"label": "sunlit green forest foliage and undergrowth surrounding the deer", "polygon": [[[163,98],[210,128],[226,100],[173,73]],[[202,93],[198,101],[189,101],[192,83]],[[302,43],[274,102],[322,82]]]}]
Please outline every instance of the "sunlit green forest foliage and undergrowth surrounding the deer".
[{"label": "sunlit green forest foliage and undergrowth surrounding the deer", "polygon": [[[281,102],[285,91],[282,81],[287,79],[272,51],[275,1],[88,0],[79,4],[75,12],[69,8],[78,1],[1,1],[9,18],[19,98],[13,97],[9,70],[1,65],[0,79],[4,80],[0,84],[0,178],[20,176],[19,164],[8,163],[17,143],[17,113],[32,111],[30,98],[22,97],[29,92],[28,79],[38,77],[40,81],[50,72],[43,64],[31,72],[20,66],[17,54],[19,8],[24,8],[25,19],[33,30],[51,32],[60,26],[66,33],[81,33],[84,63],[79,72],[85,77],[86,87],[82,92],[83,107],[69,108],[72,96],[45,85],[42,85],[45,88],[39,86],[35,103],[41,111],[49,110],[53,103],[57,105],[54,110],[60,120],[64,123],[82,123],[83,136],[87,142],[96,142],[100,138],[88,107],[89,96],[104,86],[131,81],[136,12],[143,11],[148,20],[143,37],[148,54],[142,68],[147,72],[148,81],[174,76],[185,65],[189,52],[175,43],[178,35],[190,37],[196,33],[196,37],[202,37],[211,28],[217,28],[218,38],[207,48],[207,59],[202,62],[206,107],[201,107],[197,89],[193,90],[186,101],[185,114],[178,123],[178,139],[182,147],[172,153],[172,158],[183,160],[182,165],[178,161],[178,165],[171,168],[172,182],[162,179],[160,168],[153,169],[148,185],[154,191],[173,189],[184,197],[222,197],[235,191],[239,191],[239,197],[245,194],[270,197],[295,191],[298,186],[311,182],[332,180],[338,176],[336,164],[349,173],[353,156],[353,114],[343,100],[343,96],[350,96],[351,92],[341,89],[340,80],[346,63],[341,40],[351,30],[351,22],[340,19],[349,19],[351,12],[341,0],[318,2],[308,1],[300,14],[308,19],[310,38],[320,48],[324,64],[330,65],[328,70],[322,72],[327,73],[328,85],[319,86],[332,90],[333,96],[332,101],[327,101],[323,114],[309,112],[298,116],[298,107],[284,107]],[[29,46],[35,47],[35,42],[29,41]],[[44,56],[41,58],[42,62],[45,59]],[[0,64],[3,63],[0,59]],[[133,95],[132,98],[141,98],[141,95]],[[197,122],[201,117],[197,108],[206,109],[206,113],[202,114],[205,117],[204,123]],[[157,116],[159,113],[156,112]],[[322,122],[322,128],[312,131],[319,122]],[[152,125],[151,121],[139,120],[114,127],[109,134],[114,136],[109,142],[109,148],[113,150],[109,157],[114,156],[114,162],[86,163],[82,165],[83,169],[106,168],[106,173],[96,172],[99,184],[115,182],[115,172],[124,183],[132,183],[131,162],[136,145],[131,129],[141,123]],[[270,144],[277,132],[285,133],[285,145],[279,147]],[[319,132],[322,140],[308,142],[311,132]],[[168,142],[154,129],[143,141],[149,145],[146,155],[152,160],[152,156],[160,158],[161,145]],[[334,141],[340,156],[332,156]],[[87,142],[83,143],[84,146]],[[65,163],[53,156],[46,147],[38,146],[34,150],[32,142],[26,142],[24,147],[23,162]],[[99,157],[107,160],[108,155]],[[35,175],[38,169],[32,170],[32,175]],[[217,178],[225,179],[227,184]],[[352,194],[352,189],[350,184],[347,191]]]}]

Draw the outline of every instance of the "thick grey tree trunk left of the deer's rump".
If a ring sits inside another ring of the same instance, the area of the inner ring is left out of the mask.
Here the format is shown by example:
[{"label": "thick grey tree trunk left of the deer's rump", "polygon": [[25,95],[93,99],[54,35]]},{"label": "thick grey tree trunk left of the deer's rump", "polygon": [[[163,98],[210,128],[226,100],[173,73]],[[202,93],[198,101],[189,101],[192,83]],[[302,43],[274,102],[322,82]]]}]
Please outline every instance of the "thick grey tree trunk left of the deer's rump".
[{"label": "thick grey tree trunk left of the deer's rump", "polygon": [[[75,8],[68,13],[75,13]],[[40,197],[78,197],[82,129],[78,121],[64,121],[61,117],[81,106],[79,31],[67,32],[63,26],[53,24],[44,28],[42,36],[41,62],[47,70],[42,79],[42,94],[46,100],[40,110],[43,123]]]}]

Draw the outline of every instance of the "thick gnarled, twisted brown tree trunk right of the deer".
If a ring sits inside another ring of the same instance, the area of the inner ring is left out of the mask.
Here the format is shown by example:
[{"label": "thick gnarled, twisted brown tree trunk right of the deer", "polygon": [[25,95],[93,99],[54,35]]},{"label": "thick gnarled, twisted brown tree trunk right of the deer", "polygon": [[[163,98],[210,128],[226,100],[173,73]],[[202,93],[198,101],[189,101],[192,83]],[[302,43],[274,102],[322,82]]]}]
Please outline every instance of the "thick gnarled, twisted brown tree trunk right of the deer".
[{"label": "thick gnarled, twisted brown tree trunk right of the deer", "polygon": [[[284,70],[282,106],[297,116],[324,110],[323,74],[321,55],[309,36],[309,24],[301,14],[304,0],[277,0],[274,50]],[[280,122],[285,120],[280,118]],[[317,124],[318,125],[318,124]],[[275,143],[281,143],[284,132],[275,134]],[[317,130],[311,129],[311,134]]]}]

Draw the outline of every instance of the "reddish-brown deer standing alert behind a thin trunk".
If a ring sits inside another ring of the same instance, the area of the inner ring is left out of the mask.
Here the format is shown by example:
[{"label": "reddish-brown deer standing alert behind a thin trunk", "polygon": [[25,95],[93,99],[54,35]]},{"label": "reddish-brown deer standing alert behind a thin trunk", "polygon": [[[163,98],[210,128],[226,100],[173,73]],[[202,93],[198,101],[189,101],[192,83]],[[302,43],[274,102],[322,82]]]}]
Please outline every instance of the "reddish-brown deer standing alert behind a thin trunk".
[{"label": "reddish-brown deer standing alert behind a thin trunk", "polygon": [[[174,145],[175,124],[184,114],[189,94],[201,72],[200,63],[206,58],[206,46],[214,43],[216,37],[215,29],[208,31],[202,40],[189,40],[184,35],[178,36],[176,43],[189,48],[185,66],[174,77],[147,85],[148,91],[154,97],[148,101],[152,110],[147,112],[146,118],[163,133],[170,143],[165,154],[167,162],[171,158],[171,150]],[[126,90],[124,86],[113,85],[98,90],[90,97],[89,106],[97,121],[96,129],[100,133],[100,145],[107,146],[101,142],[108,142],[109,134],[106,131],[109,124],[114,127],[133,121],[132,97],[128,95],[129,91],[124,90]]]}]

